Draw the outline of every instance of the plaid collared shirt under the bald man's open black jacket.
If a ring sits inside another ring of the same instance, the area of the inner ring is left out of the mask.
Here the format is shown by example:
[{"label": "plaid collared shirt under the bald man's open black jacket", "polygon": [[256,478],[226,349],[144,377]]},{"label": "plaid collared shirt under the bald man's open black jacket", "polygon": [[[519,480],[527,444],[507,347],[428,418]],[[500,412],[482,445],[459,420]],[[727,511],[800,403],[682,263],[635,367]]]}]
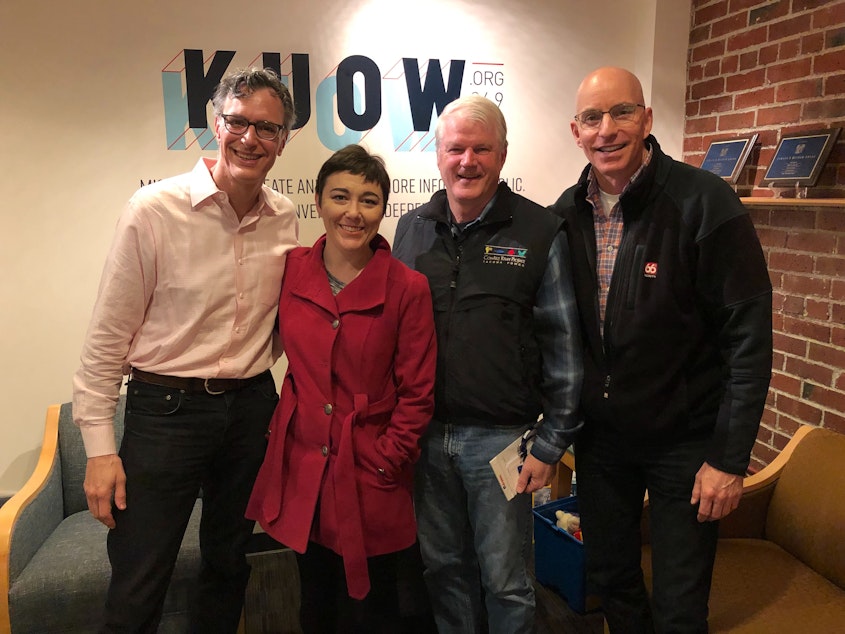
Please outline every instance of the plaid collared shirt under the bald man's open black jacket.
[{"label": "plaid collared shirt under the bald man's open black jacket", "polygon": [[[634,172],[631,180],[622,190],[625,193],[631,183],[637,180],[645,166],[651,161],[651,148],[643,160],[643,164]],[[622,219],[622,207],[617,200],[610,213],[605,215],[602,205],[601,192],[599,191],[598,180],[594,170],[590,170],[587,183],[587,201],[593,206],[593,227],[596,233],[596,273],[599,280],[599,326],[604,334],[604,314],[607,310],[607,294],[610,291],[610,279],[613,277],[613,265],[616,263],[616,254],[619,253],[619,243],[622,242],[622,233],[625,229]]]}]

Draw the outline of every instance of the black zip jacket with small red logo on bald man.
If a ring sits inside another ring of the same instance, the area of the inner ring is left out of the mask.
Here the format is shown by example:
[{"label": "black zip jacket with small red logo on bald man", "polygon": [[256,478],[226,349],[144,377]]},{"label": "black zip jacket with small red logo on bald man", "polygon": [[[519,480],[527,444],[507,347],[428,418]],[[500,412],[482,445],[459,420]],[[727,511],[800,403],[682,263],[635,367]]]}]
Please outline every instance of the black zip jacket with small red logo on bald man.
[{"label": "black zip jacket with small red logo on bald man", "polygon": [[567,223],[585,426],[605,426],[632,446],[710,437],[707,462],[744,474],[771,378],[766,261],[730,186],[674,161],[653,136],[646,145],[651,161],[620,197],[625,227],[603,338],[589,165],[551,207]]}]

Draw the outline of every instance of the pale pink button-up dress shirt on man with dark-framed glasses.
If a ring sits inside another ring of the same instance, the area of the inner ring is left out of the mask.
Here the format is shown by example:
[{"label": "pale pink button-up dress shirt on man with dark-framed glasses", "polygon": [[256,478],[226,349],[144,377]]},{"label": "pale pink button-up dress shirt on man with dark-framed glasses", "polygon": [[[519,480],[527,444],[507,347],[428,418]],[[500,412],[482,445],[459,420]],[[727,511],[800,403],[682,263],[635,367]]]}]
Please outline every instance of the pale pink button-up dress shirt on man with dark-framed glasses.
[{"label": "pale pink button-up dress shirt on man with dark-framed glasses", "polygon": [[112,425],[130,367],[200,378],[270,368],[285,255],[298,246],[290,200],[263,187],[238,220],[200,159],[139,189],[114,242],[73,378],[73,416],[88,457],[115,453]]}]

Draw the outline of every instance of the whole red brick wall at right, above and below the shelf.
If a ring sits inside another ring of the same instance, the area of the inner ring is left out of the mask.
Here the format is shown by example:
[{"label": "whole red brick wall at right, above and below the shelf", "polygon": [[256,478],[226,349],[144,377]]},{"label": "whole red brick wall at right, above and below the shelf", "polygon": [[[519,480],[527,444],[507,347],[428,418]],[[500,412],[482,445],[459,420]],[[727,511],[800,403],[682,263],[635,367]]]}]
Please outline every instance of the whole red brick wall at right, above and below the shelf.
[{"label": "whole red brick wall at right, above and below the shelf", "polygon": [[[773,377],[752,468],[797,426],[845,433],[845,131],[810,201],[757,185],[782,134],[845,128],[845,0],[693,0],[684,160],[758,133],[737,191],[774,286]],[[833,199],[839,199],[833,200]]]}]

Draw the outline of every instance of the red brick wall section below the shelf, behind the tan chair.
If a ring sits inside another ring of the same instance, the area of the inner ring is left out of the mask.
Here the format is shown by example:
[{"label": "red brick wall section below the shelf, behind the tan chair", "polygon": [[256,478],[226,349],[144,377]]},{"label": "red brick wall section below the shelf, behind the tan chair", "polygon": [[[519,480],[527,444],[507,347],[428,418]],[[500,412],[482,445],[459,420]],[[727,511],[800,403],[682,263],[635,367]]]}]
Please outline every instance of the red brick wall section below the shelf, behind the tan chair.
[{"label": "red brick wall section below the shelf, behind the tan chair", "polygon": [[754,464],[800,423],[845,433],[845,209],[749,205],[774,287],[774,362]]}]

